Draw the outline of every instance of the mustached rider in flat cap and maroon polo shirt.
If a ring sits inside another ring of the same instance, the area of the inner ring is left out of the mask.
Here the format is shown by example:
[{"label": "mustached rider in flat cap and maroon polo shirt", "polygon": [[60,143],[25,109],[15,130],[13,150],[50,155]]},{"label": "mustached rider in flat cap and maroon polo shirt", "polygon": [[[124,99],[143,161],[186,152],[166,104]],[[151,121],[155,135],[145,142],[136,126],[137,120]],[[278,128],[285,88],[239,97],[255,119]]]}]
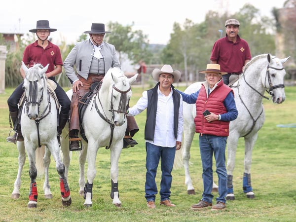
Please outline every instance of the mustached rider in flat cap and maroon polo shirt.
[{"label": "mustached rider in flat cap and maroon polo shirt", "polygon": [[238,79],[252,58],[248,42],[238,35],[239,26],[239,21],[233,18],[225,22],[226,37],[214,43],[210,57],[212,64],[219,64],[221,71],[227,73],[222,76],[226,85],[230,82],[230,76],[234,80]]}]

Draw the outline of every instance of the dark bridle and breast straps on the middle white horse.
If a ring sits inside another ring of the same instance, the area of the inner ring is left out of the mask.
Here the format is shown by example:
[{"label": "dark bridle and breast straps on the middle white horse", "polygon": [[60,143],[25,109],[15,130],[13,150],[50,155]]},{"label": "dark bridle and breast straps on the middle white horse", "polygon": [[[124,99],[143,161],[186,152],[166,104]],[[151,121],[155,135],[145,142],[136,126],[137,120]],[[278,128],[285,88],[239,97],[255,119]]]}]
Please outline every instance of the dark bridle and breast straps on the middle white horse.
[{"label": "dark bridle and breast straps on the middle white horse", "polygon": [[[95,94],[94,96],[94,103],[95,103],[95,109],[96,111],[98,112],[98,114],[100,115],[100,117],[105,120],[107,123],[110,124],[110,128],[111,128],[111,136],[110,136],[110,143],[109,143],[109,146],[106,147],[106,149],[110,148],[111,147],[111,144],[112,144],[112,139],[113,139],[113,133],[114,133],[114,128],[115,128],[115,124],[113,122],[114,120],[114,111],[117,112],[117,113],[126,113],[127,111],[127,106],[125,105],[126,102],[127,102],[127,98],[126,98],[126,93],[129,92],[132,88],[130,86],[130,88],[126,91],[121,91],[119,90],[118,88],[115,87],[115,85],[113,84],[112,86],[112,92],[111,92],[111,108],[109,111],[111,111],[111,114],[112,114],[112,117],[111,117],[111,120],[107,117],[104,109],[103,109],[103,106],[102,106],[102,102],[100,100],[100,97],[99,97],[99,92],[100,92],[100,89],[101,89],[101,86],[102,84],[100,85],[100,88],[98,90],[98,92]],[[116,90],[117,92],[121,93],[121,96],[120,96],[120,100],[119,100],[119,105],[118,105],[118,109],[117,110],[114,110],[113,109],[113,89]],[[98,100],[100,102],[100,105],[102,107],[102,110],[104,112],[104,115],[102,114],[102,112],[99,110],[99,107],[98,107],[98,104],[96,102],[96,96],[98,96]]]}]

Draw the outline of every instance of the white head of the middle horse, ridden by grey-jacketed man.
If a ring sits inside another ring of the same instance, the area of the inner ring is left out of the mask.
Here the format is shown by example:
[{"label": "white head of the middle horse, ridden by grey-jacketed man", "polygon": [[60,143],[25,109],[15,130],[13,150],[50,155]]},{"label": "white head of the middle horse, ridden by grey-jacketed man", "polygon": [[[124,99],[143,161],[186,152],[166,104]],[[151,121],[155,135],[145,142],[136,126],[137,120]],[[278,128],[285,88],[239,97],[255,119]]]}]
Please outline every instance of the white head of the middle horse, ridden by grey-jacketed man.
[{"label": "white head of the middle horse, ridden by grey-jacketed man", "polygon": [[[121,126],[125,123],[125,114],[128,110],[129,100],[132,96],[131,83],[134,82],[138,74],[127,78],[119,68],[111,68],[105,78],[112,79],[109,86],[110,109],[112,120],[115,126]],[[103,80],[103,83],[104,83]]]}]

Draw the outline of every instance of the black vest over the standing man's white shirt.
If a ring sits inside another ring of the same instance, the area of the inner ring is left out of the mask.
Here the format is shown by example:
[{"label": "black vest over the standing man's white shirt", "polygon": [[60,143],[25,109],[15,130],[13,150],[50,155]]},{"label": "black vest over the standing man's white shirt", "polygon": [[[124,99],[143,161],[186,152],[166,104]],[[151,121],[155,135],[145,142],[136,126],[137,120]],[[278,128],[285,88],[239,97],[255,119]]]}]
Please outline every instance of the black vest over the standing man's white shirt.
[{"label": "black vest over the standing man's white shirt", "polygon": [[[147,90],[148,94],[148,106],[147,106],[147,117],[145,125],[145,140],[154,140],[156,111],[157,111],[157,90],[159,82],[152,89]],[[173,102],[174,102],[174,135],[177,139],[178,136],[178,124],[179,124],[179,107],[181,95],[175,90],[175,87],[171,85],[173,89]]]}]

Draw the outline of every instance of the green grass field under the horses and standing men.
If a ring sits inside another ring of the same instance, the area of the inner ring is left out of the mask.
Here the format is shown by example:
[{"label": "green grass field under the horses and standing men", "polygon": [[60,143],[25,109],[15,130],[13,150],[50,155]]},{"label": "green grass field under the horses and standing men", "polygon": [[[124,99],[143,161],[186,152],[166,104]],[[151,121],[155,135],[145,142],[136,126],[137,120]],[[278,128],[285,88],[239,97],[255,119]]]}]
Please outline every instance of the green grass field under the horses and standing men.
[{"label": "green grass field under the horses and standing men", "polygon": [[[185,87],[177,87],[185,90]],[[145,195],[145,141],[144,126],[146,112],[136,116],[140,131],[135,135],[139,143],[134,148],[122,150],[119,159],[118,188],[122,207],[112,205],[110,198],[110,150],[100,148],[97,156],[97,175],[93,187],[93,206],[85,209],[84,199],[78,195],[78,153],[74,152],[69,170],[68,182],[71,188],[72,205],[68,208],[61,204],[59,175],[52,159],[49,180],[53,199],[43,195],[43,178],[37,179],[38,204],[36,209],[28,209],[30,187],[28,159],[22,173],[20,199],[10,198],[18,169],[18,151],[16,145],[7,143],[10,130],[8,124],[7,98],[13,89],[6,89],[0,95],[0,222],[294,222],[296,221],[296,128],[280,128],[278,124],[296,123],[296,87],[286,87],[286,101],[275,105],[263,100],[266,121],[259,131],[259,137],[253,150],[252,186],[255,199],[246,198],[242,190],[244,142],[240,139],[236,153],[236,167],[233,172],[234,201],[227,201],[223,211],[210,209],[193,211],[192,204],[201,199],[203,191],[202,169],[196,135],[191,148],[191,178],[196,195],[187,195],[184,169],[173,170],[171,200],[176,208],[156,205],[148,209]],[[142,87],[133,87],[133,106],[142,95]],[[227,155],[226,155],[227,156]],[[215,167],[213,168],[216,170]],[[160,185],[160,172],[156,177]],[[215,182],[217,175],[214,173]],[[217,197],[214,193],[214,198]],[[159,195],[156,196],[156,203]]]}]

